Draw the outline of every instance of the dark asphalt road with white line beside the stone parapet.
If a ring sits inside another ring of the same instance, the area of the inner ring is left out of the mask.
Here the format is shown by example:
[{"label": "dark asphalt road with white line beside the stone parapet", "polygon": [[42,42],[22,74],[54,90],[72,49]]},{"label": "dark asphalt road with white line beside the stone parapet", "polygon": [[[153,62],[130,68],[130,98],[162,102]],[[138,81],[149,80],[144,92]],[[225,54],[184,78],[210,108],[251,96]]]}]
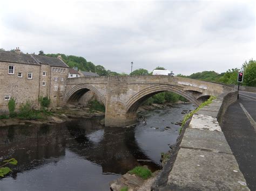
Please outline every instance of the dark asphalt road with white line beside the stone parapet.
[{"label": "dark asphalt road with white line beside the stone parapet", "polygon": [[244,174],[248,187],[256,190],[256,93],[239,91],[239,100],[228,107],[222,129]]}]

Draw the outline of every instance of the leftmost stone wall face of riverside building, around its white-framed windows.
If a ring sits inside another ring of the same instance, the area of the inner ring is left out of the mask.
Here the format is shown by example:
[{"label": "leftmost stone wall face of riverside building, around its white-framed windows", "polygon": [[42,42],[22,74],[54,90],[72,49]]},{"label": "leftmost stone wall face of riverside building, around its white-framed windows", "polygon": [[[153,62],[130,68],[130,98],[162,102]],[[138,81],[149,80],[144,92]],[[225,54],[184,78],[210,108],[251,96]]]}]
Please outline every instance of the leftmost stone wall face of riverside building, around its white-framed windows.
[{"label": "leftmost stone wall face of riverside building, around its white-framed windows", "polygon": [[[8,74],[10,65],[15,67],[14,74]],[[16,108],[27,100],[38,105],[39,70],[39,65],[0,62],[0,112],[8,111],[5,95],[16,98]],[[28,72],[32,72],[32,79],[28,79]],[[18,73],[22,73],[22,77],[18,77]]]}]

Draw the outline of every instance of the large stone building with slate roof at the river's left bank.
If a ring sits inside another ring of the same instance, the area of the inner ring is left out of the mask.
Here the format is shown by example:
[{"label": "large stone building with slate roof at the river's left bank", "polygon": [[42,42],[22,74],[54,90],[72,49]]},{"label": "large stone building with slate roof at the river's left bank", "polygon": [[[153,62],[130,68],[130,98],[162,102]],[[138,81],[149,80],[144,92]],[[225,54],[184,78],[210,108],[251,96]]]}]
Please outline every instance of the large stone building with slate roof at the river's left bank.
[{"label": "large stone building with slate roof at the river's left bank", "polygon": [[39,97],[47,96],[51,106],[62,105],[69,67],[59,58],[35,54],[0,51],[0,112],[8,111],[8,100],[19,104],[31,101],[39,105]]}]

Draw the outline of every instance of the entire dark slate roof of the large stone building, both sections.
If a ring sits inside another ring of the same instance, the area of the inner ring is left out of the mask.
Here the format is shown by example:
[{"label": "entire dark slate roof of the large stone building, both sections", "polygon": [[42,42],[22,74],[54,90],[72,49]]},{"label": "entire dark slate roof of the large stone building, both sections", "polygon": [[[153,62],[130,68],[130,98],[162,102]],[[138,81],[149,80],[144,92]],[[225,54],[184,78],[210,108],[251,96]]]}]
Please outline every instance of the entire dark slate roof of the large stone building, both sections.
[{"label": "entire dark slate roof of the large stone building, both sections", "polygon": [[40,63],[47,64],[49,66],[65,67],[66,65],[62,60],[58,58],[41,56],[36,54],[17,54],[10,51],[0,51],[0,61],[15,62],[15,63],[26,63],[31,65],[40,65]]}]

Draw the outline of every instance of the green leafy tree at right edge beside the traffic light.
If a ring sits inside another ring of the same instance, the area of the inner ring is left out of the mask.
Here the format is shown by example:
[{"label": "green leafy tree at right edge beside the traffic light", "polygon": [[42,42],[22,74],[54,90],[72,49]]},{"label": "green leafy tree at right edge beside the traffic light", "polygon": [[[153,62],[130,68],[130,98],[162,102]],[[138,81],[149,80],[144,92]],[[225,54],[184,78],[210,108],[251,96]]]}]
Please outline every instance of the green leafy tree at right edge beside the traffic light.
[{"label": "green leafy tree at right edge beside the traffic light", "polygon": [[245,86],[256,87],[256,61],[251,59],[249,62],[244,63],[244,82]]}]

